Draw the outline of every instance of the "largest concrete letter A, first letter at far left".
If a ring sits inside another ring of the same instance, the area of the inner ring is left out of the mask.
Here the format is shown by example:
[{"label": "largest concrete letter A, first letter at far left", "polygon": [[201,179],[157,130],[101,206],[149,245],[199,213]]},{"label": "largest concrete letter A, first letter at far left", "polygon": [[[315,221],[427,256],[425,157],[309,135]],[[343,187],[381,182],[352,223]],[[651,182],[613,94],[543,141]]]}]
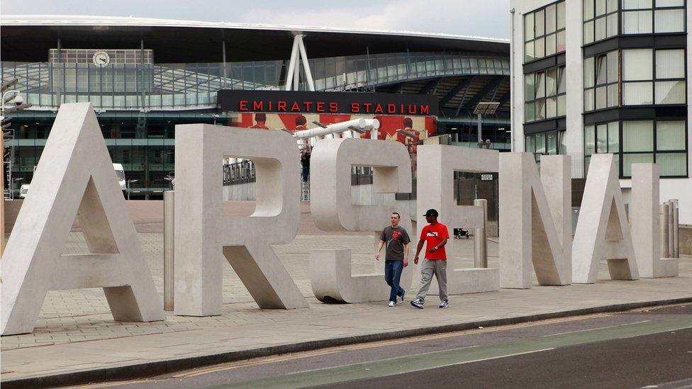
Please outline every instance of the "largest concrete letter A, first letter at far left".
[{"label": "largest concrete letter A, first letter at far left", "polygon": [[[75,215],[91,254],[60,254]],[[99,287],[115,320],[164,319],[94,110],[62,104],[2,256],[2,334],[31,332],[47,291]]]}]

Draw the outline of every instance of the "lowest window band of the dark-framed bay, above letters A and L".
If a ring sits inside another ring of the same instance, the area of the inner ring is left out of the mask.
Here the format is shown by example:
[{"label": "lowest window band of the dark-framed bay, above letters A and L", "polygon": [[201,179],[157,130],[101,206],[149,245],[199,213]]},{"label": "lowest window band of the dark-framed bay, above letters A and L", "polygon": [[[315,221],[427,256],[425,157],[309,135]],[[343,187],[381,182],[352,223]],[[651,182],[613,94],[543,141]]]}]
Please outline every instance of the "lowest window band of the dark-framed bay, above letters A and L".
[{"label": "lowest window band of the dark-framed bay, above letters A and L", "polygon": [[[622,129],[622,134],[620,134]],[[615,154],[621,178],[632,176],[632,164],[659,164],[661,176],[687,176],[684,120],[625,120],[584,127],[584,166],[593,154]]]}]

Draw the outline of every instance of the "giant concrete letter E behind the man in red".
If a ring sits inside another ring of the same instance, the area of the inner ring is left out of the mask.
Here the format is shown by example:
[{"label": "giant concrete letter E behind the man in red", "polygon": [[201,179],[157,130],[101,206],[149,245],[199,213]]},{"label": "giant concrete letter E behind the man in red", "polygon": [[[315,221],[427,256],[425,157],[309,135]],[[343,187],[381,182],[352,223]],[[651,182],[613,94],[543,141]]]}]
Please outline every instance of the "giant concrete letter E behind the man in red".
[{"label": "giant concrete letter E behind the man in red", "polygon": [[[454,171],[498,171],[498,151],[446,145],[418,146],[418,235],[425,226],[421,215],[430,208],[440,212],[440,222],[450,230],[483,227],[483,208],[454,205]],[[453,245],[454,239],[450,239],[446,249],[448,261],[452,260]],[[500,276],[496,268],[454,269],[447,274],[447,293],[450,295],[497,291],[499,288]],[[436,289],[437,283],[428,294],[437,293]]]}]

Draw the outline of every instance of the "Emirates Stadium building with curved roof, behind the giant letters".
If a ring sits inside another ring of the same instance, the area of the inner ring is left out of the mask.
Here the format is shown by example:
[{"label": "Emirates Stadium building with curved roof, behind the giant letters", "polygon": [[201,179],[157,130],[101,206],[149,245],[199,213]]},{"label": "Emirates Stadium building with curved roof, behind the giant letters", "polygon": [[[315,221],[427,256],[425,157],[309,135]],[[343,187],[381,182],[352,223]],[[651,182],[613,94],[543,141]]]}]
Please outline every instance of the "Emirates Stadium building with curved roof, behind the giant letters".
[{"label": "Emirates Stadium building with curved roof, behind the giant letters", "polygon": [[[60,104],[80,101],[94,106],[132,198],[170,188],[182,123],[294,131],[367,115],[382,123],[380,139],[406,142],[410,132],[396,129],[408,125],[415,137],[477,147],[474,108],[494,101],[482,137],[510,149],[508,40],[85,16],[4,16],[1,28],[2,81],[16,79],[12,89],[32,105],[13,114],[6,139],[14,190],[30,183]],[[301,101],[282,112],[286,89],[323,92],[318,100],[334,96],[351,111]]]}]

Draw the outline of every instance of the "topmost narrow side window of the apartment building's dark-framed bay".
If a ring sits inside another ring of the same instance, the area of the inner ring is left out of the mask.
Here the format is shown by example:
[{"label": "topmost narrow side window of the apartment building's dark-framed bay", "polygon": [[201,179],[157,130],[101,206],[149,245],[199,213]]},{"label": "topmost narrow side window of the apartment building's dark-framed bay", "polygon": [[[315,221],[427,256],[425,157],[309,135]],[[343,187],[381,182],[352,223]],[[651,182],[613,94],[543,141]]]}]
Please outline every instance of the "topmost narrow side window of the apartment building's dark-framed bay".
[{"label": "topmost narrow side window of the apartment building's dark-framed bay", "polygon": [[615,35],[618,35],[618,0],[584,0],[584,45]]}]

